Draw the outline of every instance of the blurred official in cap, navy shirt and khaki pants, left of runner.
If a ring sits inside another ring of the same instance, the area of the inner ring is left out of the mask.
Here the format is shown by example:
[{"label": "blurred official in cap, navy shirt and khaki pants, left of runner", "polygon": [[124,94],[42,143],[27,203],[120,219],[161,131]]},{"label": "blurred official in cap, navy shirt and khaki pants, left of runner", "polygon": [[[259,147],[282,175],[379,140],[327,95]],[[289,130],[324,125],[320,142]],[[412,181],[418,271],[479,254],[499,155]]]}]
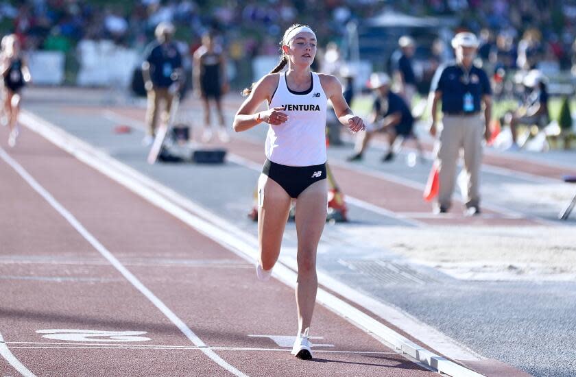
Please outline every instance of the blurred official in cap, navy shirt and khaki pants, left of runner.
[{"label": "blurred official in cap, navy shirt and khaki pants, left of runner", "polygon": [[146,136],[143,144],[150,145],[156,134],[160,102],[164,102],[163,121],[168,121],[172,100],[178,94],[184,80],[182,74],[182,57],[178,46],[172,41],[174,26],[161,22],[154,30],[156,41],[146,49],[142,63],[142,75],[148,97],[146,111]]}]

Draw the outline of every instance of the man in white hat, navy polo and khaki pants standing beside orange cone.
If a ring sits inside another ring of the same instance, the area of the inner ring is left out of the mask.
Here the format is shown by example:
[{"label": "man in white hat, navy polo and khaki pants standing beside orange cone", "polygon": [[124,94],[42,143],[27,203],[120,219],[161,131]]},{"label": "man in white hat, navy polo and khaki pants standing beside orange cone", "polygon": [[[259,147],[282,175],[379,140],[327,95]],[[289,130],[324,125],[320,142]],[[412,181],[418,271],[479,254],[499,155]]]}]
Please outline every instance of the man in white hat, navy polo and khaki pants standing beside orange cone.
[{"label": "man in white hat, navy polo and khaki pants standing beside orange cone", "polygon": [[442,129],[435,145],[440,190],[434,212],[448,212],[452,204],[457,160],[464,149],[464,169],[468,178],[464,193],[466,215],[480,213],[480,165],[482,136],[490,138],[492,88],[486,73],[473,64],[478,40],[472,33],[456,34],[452,40],[456,61],[437,69],[431,85],[430,133],[437,134],[437,106],[442,101]]}]

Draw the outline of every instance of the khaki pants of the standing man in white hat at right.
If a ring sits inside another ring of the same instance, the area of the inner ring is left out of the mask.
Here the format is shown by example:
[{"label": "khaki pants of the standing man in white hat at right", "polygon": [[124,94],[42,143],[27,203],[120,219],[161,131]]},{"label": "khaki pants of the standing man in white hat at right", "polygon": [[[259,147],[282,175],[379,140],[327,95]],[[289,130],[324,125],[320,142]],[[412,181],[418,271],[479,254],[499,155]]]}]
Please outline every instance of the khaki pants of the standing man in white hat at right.
[{"label": "khaki pants of the standing man in white hat at right", "polygon": [[483,117],[480,115],[444,115],[444,127],[435,145],[436,163],[439,167],[440,191],[438,205],[450,208],[456,180],[456,166],[460,149],[464,149],[466,190],[463,190],[466,207],[480,204],[480,165],[482,160]]}]

